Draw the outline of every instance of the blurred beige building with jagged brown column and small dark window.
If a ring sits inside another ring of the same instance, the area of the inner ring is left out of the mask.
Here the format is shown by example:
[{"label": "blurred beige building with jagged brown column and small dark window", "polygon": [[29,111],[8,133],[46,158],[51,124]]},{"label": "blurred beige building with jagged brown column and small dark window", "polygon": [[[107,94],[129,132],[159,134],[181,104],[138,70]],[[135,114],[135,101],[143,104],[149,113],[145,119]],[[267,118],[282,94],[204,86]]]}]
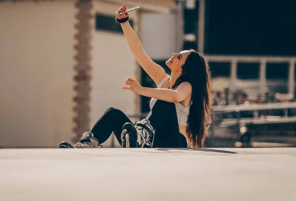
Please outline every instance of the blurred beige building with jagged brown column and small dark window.
[{"label": "blurred beige building with jagged brown column and small dark window", "polygon": [[126,3],[140,36],[143,12],[168,13],[174,0],[0,0],[0,147],[57,147],[74,141],[109,107],[140,112],[122,90],[141,81],[114,21]]}]

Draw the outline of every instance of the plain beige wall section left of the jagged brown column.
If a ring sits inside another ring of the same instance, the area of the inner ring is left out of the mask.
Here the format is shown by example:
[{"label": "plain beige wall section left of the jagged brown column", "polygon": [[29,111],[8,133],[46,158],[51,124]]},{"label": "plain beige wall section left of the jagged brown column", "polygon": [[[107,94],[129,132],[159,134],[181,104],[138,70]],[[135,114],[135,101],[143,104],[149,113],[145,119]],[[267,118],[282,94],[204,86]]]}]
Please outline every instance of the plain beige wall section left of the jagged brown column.
[{"label": "plain beige wall section left of the jagged brown column", "polygon": [[73,1],[0,2],[0,147],[51,147],[74,126]]}]

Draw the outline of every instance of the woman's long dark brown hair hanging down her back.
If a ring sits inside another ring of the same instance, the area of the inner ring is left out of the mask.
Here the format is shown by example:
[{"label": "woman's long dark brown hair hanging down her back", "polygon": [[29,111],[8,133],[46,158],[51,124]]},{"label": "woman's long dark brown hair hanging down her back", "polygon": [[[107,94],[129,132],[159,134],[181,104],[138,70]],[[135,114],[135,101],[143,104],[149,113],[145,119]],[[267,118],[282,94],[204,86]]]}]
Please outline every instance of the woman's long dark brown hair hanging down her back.
[{"label": "woman's long dark brown hair hanging down her back", "polygon": [[213,103],[211,71],[204,58],[194,49],[183,65],[182,75],[171,88],[187,81],[192,86],[192,105],[187,121],[187,135],[193,148],[202,148],[211,124],[211,107]]}]

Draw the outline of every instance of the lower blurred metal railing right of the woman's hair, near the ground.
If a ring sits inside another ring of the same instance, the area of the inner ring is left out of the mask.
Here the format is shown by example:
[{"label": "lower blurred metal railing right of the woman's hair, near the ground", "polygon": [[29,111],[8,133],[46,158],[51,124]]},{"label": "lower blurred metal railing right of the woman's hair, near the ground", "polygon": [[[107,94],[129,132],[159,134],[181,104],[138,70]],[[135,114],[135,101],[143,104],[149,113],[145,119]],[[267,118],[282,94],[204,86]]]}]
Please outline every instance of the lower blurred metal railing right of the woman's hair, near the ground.
[{"label": "lower blurred metal railing right of the woman's hair, near the ground", "polygon": [[[253,124],[253,125],[273,124],[274,125],[279,123],[286,123],[289,126],[291,126],[291,123],[296,123],[296,113],[294,111],[294,114],[289,116],[288,110],[295,110],[295,109],[296,109],[296,102],[215,106],[213,107],[213,111],[211,114],[213,122],[209,132],[210,137],[212,139],[212,142],[211,142],[212,146],[215,146],[215,141],[218,139],[217,135],[220,135],[220,138],[225,138],[227,134],[228,134],[227,135],[228,137],[232,136],[232,138],[235,138],[236,142],[240,142],[242,146],[249,146],[251,143],[251,134],[248,131],[249,130],[248,125],[250,124]],[[275,111],[275,110],[276,111],[282,110],[283,112],[281,113],[281,116],[268,115],[270,111]],[[265,112],[264,115],[259,117],[259,111],[262,111],[261,112],[262,114],[264,114],[264,111],[268,111],[268,112]],[[241,118],[241,113],[244,113],[244,112],[251,112],[248,115],[251,114],[253,117]],[[221,118],[223,115],[229,114],[229,113],[233,115],[233,118],[231,119]],[[226,128],[226,130],[225,129],[223,130],[223,128]],[[223,133],[220,133],[221,129],[223,130]],[[275,129],[275,128],[273,127],[271,128],[271,130],[272,129]],[[273,130],[273,131],[276,131],[280,135],[285,133],[279,130],[278,127],[276,127],[276,130]],[[227,133],[224,133],[224,132],[227,132]],[[264,130],[263,132],[262,131],[260,132],[260,130],[258,130],[257,133],[264,135],[264,132],[266,133],[266,130]],[[295,132],[293,135],[295,135]],[[244,141],[246,139],[248,140]]]}]

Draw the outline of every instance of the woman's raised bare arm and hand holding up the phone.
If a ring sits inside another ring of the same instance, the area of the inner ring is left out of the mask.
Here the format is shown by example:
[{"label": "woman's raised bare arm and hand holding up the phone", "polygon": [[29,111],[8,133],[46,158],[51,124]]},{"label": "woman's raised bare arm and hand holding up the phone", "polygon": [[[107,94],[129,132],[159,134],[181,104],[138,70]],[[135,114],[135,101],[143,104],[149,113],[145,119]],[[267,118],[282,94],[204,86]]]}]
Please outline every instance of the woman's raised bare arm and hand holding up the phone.
[{"label": "woman's raised bare arm and hand holding up the phone", "polygon": [[[119,8],[116,12],[116,17],[118,19],[124,19],[129,16],[129,14],[121,14],[120,12],[126,13],[127,7],[125,4],[121,8]],[[131,50],[131,52],[136,57],[139,64],[142,66],[142,68],[145,70],[145,72],[150,76],[150,78],[156,83],[156,85],[159,84],[159,82],[166,77],[164,69],[153,62],[148,54],[145,52],[145,50],[142,47],[141,41],[137,37],[136,33],[134,32],[133,28],[131,27],[130,23],[124,22],[120,23],[125,39],[128,43],[128,46]]]}]

